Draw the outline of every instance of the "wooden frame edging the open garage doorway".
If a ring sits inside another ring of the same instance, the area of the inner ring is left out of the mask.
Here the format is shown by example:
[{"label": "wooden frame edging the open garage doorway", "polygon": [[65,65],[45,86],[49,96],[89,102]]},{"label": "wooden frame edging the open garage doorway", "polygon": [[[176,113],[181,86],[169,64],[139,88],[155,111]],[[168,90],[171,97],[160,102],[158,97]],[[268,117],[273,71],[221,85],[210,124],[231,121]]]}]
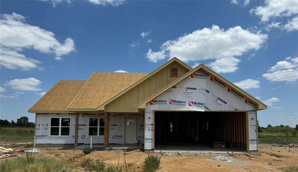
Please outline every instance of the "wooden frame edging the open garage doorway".
[{"label": "wooden frame edging the open garage doorway", "polygon": [[[155,126],[155,112],[199,112],[199,111],[190,111],[190,110],[154,110],[153,111],[153,126],[154,126],[154,129],[153,129],[153,151],[155,151],[155,130],[156,130],[156,126]],[[246,152],[249,153],[249,126],[248,126],[248,111],[230,111],[230,110],[223,110],[223,111],[220,111],[220,110],[206,110],[204,112],[245,112],[245,128],[246,128]],[[236,137],[239,137],[236,136]],[[239,139],[239,138],[238,138]]]}]

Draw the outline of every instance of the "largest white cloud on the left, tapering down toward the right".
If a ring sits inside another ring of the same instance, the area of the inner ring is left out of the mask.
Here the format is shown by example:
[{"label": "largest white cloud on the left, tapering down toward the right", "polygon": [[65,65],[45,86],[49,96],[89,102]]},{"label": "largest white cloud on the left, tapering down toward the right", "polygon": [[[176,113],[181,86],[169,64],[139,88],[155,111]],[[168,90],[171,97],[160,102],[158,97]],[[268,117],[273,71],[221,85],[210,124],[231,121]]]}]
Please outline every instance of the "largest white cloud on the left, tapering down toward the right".
[{"label": "largest white cloud on the left, tapering down toward the right", "polygon": [[66,38],[60,43],[53,32],[27,24],[24,16],[14,12],[1,15],[0,29],[1,47],[12,51],[32,48],[42,53],[54,53],[56,56],[75,51],[75,41],[72,38]]}]

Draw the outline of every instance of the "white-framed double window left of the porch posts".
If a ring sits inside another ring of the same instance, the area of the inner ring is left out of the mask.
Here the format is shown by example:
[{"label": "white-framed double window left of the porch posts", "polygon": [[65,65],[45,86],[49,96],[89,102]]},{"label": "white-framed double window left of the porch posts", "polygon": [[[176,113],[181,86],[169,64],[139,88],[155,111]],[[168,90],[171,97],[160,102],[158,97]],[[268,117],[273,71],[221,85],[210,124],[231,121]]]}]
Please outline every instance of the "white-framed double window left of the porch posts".
[{"label": "white-framed double window left of the porch posts", "polygon": [[70,136],[70,118],[51,118],[50,136]]}]

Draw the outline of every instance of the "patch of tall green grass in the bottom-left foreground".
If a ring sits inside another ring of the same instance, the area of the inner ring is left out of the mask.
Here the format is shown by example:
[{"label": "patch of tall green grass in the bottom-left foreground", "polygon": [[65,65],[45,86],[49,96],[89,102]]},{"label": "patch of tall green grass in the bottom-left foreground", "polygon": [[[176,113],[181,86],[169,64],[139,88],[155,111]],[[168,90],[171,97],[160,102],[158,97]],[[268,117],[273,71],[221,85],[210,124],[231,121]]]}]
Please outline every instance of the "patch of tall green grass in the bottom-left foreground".
[{"label": "patch of tall green grass in the bottom-left foreground", "polygon": [[0,161],[1,171],[5,172],[56,172],[77,169],[77,165],[65,164],[55,158],[35,157],[33,162],[26,157],[10,158]]}]

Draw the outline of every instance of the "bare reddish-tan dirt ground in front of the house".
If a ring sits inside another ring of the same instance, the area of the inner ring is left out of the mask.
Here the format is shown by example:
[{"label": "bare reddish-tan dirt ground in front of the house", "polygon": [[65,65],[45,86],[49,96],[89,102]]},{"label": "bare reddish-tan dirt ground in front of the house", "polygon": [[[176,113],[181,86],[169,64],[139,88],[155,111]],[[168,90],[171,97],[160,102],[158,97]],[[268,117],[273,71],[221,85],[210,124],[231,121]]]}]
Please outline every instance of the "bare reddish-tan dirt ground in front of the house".
[{"label": "bare reddish-tan dirt ground in front of the house", "polygon": [[[269,172],[280,171],[278,168],[288,165],[298,164],[298,148],[285,146],[271,146],[270,144],[259,144],[261,152],[260,156],[254,156],[252,159],[245,155],[237,155],[233,157],[233,162],[223,162],[212,160],[211,157],[217,155],[169,155],[161,156],[161,163],[158,172],[231,172],[231,171],[256,171]],[[290,151],[289,151],[290,150]],[[118,163],[124,161],[122,150],[113,151],[94,151],[85,155],[81,150],[60,150],[60,149],[44,149],[38,156],[55,157],[66,163],[80,164],[84,158],[89,157],[92,160],[103,160],[106,163]],[[136,162],[137,170],[142,171],[142,166],[148,154],[144,152],[134,152],[125,156],[126,162]],[[155,154],[154,154],[155,155]],[[277,161],[281,160],[281,161]],[[272,165],[269,165],[272,164]],[[218,167],[218,165],[220,165]],[[79,168],[78,171],[85,171]]]}]

